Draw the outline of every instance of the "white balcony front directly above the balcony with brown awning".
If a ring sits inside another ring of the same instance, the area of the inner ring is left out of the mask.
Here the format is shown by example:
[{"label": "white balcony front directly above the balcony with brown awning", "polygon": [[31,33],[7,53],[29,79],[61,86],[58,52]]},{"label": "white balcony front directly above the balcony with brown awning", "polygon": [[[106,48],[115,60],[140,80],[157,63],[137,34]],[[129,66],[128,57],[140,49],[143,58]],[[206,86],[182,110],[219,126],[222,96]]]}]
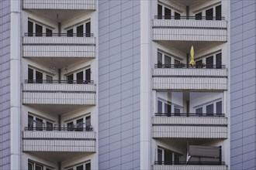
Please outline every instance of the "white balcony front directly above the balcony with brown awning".
[{"label": "white balcony front directly above the balcony with brown awning", "polygon": [[227,138],[224,114],[155,114],[152,138]]}]

